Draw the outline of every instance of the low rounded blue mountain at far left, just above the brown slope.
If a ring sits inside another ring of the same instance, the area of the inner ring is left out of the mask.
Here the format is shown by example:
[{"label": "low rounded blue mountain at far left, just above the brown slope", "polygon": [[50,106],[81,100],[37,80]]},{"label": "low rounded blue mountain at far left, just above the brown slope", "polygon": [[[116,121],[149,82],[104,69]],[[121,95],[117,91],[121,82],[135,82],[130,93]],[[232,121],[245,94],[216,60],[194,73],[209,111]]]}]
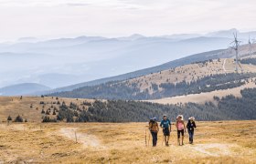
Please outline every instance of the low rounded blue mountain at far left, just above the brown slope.
[{"label": "low rounded blue mountain at far left, just above the brown slope", "polygon": [[37,83],[22,83],[13,86],[7,86],[0,88],[1,96],[22,96],[29,95],[37,91],[48,90],[50,87],[46,87]]}]

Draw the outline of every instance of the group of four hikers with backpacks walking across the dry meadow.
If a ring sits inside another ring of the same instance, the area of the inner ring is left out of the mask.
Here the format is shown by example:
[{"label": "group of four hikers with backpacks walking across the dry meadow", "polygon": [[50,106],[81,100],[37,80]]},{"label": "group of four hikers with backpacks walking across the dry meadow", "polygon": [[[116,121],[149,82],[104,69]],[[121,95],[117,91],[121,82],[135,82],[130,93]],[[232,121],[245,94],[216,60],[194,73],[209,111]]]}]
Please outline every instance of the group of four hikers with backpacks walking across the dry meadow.
[{"label": "group of four hikers with backpacks walking across the dry meadow", "polygon": [[[171,120],[168,119],[166,115],[163,116],[163,119],[160,123],[160,127],[163,128],[163,133],[164,133],[164,137],[165,137],[165,146],[168,147],[172,126],[171,126]],[[187,132],[189,134],[189,144],[193,144],[194,129],[197,128],[195,118],[194,117],[188,118],[187,126],[185,126],[183,116],[178,115],[176,117],[176,129],[177,129],[177,144],[179,146],[184,145],[184,134],[186,133],[186,128],[187,128]],[[153,147],[156,147],[157,133],[159,131],[157,118],[150,119],[149,130],[150,130],[152,138],[153,138]],[[181,142],[180,142],[180,137],[181,137]]]}]

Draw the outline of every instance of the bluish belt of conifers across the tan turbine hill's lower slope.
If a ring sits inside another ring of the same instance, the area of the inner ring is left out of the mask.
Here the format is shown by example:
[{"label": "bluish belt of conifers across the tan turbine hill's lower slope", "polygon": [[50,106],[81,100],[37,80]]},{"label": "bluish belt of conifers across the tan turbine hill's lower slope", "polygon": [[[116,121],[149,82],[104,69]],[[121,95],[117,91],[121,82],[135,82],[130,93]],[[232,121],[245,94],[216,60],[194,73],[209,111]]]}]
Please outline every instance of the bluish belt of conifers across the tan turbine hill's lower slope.
[{"label": "bluish belt of conifers across the tan turbine hill's lower slope", "polygon": [[114,81],[98,86],[80,87],[72,91],[54,93],[51,96],[129,100],[155,99],[240,87],[251,77],[256,77],[256,74],[219,74],[202,77],[190,83],[182,81],[176,84],[162,83],[159,86],[152,84],[153,94],[148,89],[141,91],[137,83],[129,84],[128,82]]}]

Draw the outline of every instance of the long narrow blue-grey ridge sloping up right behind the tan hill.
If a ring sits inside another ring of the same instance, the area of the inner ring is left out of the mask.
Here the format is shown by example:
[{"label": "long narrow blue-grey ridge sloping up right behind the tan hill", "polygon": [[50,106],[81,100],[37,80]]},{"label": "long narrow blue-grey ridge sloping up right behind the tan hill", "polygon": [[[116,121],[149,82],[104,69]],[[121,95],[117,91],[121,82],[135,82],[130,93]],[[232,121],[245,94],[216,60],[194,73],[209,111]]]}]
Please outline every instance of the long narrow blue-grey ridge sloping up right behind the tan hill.
[{"label": "long narrow blue-grey ridge sloping up right behind the tan hill", "polygon": [[[252,45],[252,50],[255,49],[255,47],[256,47],[256,45]],[[248,45],[240,46],[240,56],[249,56],[248,49],[249,49]],[[252,53],[255,53],[255,50],[253,50]],[[71,85],[68,87],[55,88],[52,90],[48,90],[46,92],[36,93],[36,95],[49,94],[49,93],[55,93],[55,92],[63,92],[63,91],[71,91],[71,90],[79,88],[79,87],[91,87],[91,86],[100,85],[100,84],[111,82],[111,81],[123,81],[123,80],[132,79],[132,78],[136,78],[136,77],[143,77],[145,75],[150,75],[152,73],[157,73],[157,72],[171,69],[174,67],[181,67],[184,65],[189,65],[191,63],[203,62],[203,61],[206,61],[209,59],[229,58],[229,57],[234,57],[234,56],[235,56],[234,51],[231,50],[230,48],[219,49],[219,50],[195,54],[192,56],[182,57],[180,59],[176,59],[174,61],[167,62],[163,65],[159,65],[156,67],[148,67],[148,68],[137,70],[137,71],[134,71],[131,73],[123,74],[120,76],[100,78],[97,80],[79,83],[79,84]],[[219,67],[219,69],[222,69],[222,68]],[[232,71],[228,71],[228,72],[232,72]]]}]

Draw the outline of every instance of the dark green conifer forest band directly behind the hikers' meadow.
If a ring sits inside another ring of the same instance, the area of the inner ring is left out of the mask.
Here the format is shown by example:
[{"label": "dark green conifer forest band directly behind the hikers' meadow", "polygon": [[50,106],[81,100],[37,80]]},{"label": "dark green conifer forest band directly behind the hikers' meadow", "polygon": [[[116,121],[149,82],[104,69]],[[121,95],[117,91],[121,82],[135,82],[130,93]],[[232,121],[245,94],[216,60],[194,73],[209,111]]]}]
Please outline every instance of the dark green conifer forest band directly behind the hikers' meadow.
[{"label": "dark green conifer forest band directly behind the hikers' meadow", "polygon": [[175,120],[178,114],[187,119],[191,116],[197,120],[230,120],[256,119],[256,88],[241,90],[242,97],[214,97],[217,103],[207,102],[203,105],[195,103],[178,103],[176,105],[161,105],[133,100],[95,100],[84,103],[88,109],[78,108],[78,105],[65,102],[59,103],[56,118],[50,119],[43,114],[43,122],[144,122],[156,117],[160,120],[167,114]]}]

